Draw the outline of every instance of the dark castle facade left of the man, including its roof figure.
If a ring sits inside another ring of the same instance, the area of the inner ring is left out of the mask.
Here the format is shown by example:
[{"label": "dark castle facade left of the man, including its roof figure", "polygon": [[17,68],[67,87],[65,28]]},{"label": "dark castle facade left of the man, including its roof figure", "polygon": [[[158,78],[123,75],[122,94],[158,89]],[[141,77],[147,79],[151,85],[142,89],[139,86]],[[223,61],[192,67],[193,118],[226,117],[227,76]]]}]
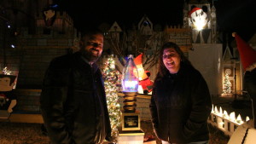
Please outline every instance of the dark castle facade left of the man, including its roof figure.
[{"label": "dark castle facade left of the man, including its roof figure", "polygon": [[[77,51],[80,33],[73,26],[72,18],[66,12],[56,10],[50,1],[20,3],[18,11],[29,15],[29,19],[20,20],[21,22],[15,20],[12,9],[7,9],[9,4],[19,4],[18,2],[6,1],[1,4],[6,13],[3,16],[7,19],[1,19],[1,29],[4,31],[0,32],[0,41],[1,44],[4,42],[4,46],[0,49],[0,69],[7,67],[17,77],[15,112],[40,112],[40,89],[49,61],[56,56]],[[32,10],[25,11],[30,6],[33,7]],[[16,15],[17,18],[20,17],[19,14]],[[4,29],[2,25],[6,22],[11,27]],[[7,34],[8,37],[5,37]],[[12,43],[13,47],[10,47]]]}]

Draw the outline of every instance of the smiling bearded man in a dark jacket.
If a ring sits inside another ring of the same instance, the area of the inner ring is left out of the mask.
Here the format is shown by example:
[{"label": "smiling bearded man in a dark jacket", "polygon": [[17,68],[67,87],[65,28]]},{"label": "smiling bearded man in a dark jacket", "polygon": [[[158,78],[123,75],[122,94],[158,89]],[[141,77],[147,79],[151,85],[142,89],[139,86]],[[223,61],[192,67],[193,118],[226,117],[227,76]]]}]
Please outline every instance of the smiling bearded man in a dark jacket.
[{"label": "smiling bearded man in a dark jacket", "polygon": [[78,52],[50,62],[40,103],[52,144],[111,141],[102,74],[96,66],[102,49],[102,32],[88,32]]}]

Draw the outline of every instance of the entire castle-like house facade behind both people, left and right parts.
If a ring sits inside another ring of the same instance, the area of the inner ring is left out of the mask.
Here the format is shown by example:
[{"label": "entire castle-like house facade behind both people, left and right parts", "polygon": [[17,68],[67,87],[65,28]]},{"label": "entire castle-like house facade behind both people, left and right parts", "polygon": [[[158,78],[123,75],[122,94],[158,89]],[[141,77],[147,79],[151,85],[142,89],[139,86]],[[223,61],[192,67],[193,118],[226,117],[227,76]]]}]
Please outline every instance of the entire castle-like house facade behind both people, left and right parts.
[{"label": "entire castle-like house facade behind both people, left and right parts", "polygon": [[[20,11],[13,15],[12,9],[6,9],[9,8],[9,4],[3,4],[8,1],[1,1],[3,6],[1,11],[6,10],[7,14],[0,13],[0,69],[7,66],[9,70],[15,72],[18,80],[17,90],[41,89],[49,61],[55,56],[79,49],[80,33],[73,26],[73,20],[66,12],[55,10],[49,2],[9,3],[20,8]],[[195,29],[192,22],[193,14],[189,13],[194,8],[200,8],[205,13],[201,14],[205,18],[205,26],[201,31]],[[112,51],[112,54],[116,55],[114,57],[117,61],[116,68],[122,72],[125,55],[136,57],[143,53],[143,68],[150,72],[150,79],[154,80],[157,72],[158,49],[163,43],[174,42],[183,49],[195,68],[202,73],[212,95],[223,93],[225,72],[230,74],[232,93],[242,90],[243,72],[238,52],[236,49],[233,52],[229,49],[223,50],[223,43],[218,42],[215,11],[211,3],[190,1],[183,7],[183,26],[160,26],[154,24],[155,21],[150,20],[148,15],[143,15],[131,29],[121,27],[119,21],[114,21],[111,26],[100,26],[104,27],[102,30],[105,32],[105,55],[108,55],[108,49]],[[20,14],[25,14],[26,18]],[[15,29],[4,27],[6,21],[9,21]],[[15,48],[9,47],[12,42],[15,43]],[[255,40],[252,39],[249,43],[254,44]],[[107,56],[103,55],[102,61],[106,60],[104,58]],[[101,65],[102,61],[100,61]],[[40,91],[34,93],[33,95],[37,95],[36,98],[33,97],[36,102],[32,101],[32,105],[25,102],[26,110],[38,110],[38,106],[35,108],[34,105],[38,105]],[[29,95],[25,95],[24,100],[27,101]],[[19,103],[17,107],[20,107]]]}]

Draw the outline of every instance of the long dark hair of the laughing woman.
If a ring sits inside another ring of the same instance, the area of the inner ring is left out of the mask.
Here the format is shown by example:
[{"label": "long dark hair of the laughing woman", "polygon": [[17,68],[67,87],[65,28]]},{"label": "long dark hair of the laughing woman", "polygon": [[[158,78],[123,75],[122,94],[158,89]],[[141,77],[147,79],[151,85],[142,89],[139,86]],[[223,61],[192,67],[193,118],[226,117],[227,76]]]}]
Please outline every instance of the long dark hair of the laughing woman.
[{"label": "long dark hair of the laughing woman", "polygon": [[154,79],[154,81],[158,80],[159,78],[163,78],[166,75],[166,73],[169,73],[169,70],[166,68],[166,66],[163,62],[164,50],[169,49],[169,48],[175,49],[177,51],[177,54],[180,55],[180,58],[181,58],[180,64],[181,65],[186,64],[186,65],[192,66],[190,61],[185,57],[185,55],[183,54],[183,51],[177,46],[176,43],[167,42],[160,49],[160,55],[158,58],[158,73],[157,73],[157,76]]}]

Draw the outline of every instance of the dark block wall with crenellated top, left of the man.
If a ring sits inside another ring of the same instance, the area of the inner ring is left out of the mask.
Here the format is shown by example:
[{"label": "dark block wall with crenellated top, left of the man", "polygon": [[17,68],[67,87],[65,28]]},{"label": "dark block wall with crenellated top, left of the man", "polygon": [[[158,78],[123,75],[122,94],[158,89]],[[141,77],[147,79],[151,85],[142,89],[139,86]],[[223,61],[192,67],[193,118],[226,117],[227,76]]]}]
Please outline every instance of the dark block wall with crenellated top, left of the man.
[{"label": "dark block wall with crenellated top, left of the man", "polygon": [[[80,33],[73,27],[73,20],[65,12],[55,14],[53,26],[47,27],[49,33],[45,33],[44,16],[40,13],[36,16],[35,33],[30,33],[29,27],[18,27],[19,33],[13,39],[15,48],[6,46],[6,49],[0,49],[1,54],[3,50],[6,54],[6,59],[0,60],[1,64],[5,62],[10,71],[18,74],[17,89],[41,89],[50,60],[77,49],[75,43]],[[3,65],[0,65],[0,69],[3,69]]]}]

